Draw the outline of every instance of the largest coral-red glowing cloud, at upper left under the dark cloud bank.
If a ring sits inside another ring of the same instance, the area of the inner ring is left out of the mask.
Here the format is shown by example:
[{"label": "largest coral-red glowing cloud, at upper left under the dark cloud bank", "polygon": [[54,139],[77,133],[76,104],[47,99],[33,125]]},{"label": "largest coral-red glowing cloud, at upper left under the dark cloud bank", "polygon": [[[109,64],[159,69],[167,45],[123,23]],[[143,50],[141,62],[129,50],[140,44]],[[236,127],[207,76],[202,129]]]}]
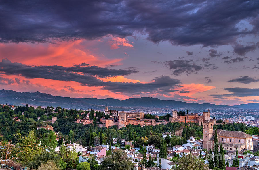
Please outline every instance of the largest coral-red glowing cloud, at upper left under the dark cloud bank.
[{"label": "largest coral-red glowing cloud, at upper left under the dark cloud bank", "polygon": [[[122,58],[108,59],[104,55],[93,55],[87,40],[60,42],[59,44],[31,44],[9,43],[0,44],[0,59],[10,59],[26,65],[59,65],[72,66],[73,64],[88,63],[104,67],[116,63],[120,65]],[[93,42],[93,43],[98,43]]]}]

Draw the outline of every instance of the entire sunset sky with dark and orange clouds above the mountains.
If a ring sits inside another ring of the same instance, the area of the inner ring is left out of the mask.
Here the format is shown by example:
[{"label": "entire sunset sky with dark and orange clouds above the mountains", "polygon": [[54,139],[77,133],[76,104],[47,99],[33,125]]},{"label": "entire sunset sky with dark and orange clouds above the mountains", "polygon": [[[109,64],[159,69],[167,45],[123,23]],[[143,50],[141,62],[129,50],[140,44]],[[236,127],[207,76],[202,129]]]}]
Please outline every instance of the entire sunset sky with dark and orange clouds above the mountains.
[{"label": "entire sunset sky with dark and orange clouds above the mountains", "polygon": [[0,89],[259,102],[258,0],[5,1]]}]

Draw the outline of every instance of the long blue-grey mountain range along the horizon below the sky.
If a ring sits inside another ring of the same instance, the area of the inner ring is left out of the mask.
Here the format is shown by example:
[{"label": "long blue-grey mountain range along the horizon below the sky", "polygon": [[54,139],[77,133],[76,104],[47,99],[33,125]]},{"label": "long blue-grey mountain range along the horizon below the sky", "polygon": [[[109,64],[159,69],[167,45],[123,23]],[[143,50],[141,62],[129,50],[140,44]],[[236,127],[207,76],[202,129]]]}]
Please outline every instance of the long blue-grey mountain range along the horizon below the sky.
[{"label": "long blue-grey mountain range along the horizon below the sky", "polygon": [[[190,109],[221,109],[221,108],[243,108],[242,106],[214,105],[210,103],[187,103],[175,100],[160,100],[152,97],[129,98],[126,100],[118,100],[113,98],[97,99],[97,98],[70,98],[52,96],[41,92],[16,92],[12,90],[0,90],[0,103],[9,103],[16,105],[32,105],[32,106],[60,106],[62,108],[77,109],[104,109],[105,105],[109,108],[117,110],[125,110],[129,108],[190,108]],[[256,103],[254,103],[256,104]],[[248,104],[246,104],[248,105]],[[258,105],[258,103],[257,103]]]}]

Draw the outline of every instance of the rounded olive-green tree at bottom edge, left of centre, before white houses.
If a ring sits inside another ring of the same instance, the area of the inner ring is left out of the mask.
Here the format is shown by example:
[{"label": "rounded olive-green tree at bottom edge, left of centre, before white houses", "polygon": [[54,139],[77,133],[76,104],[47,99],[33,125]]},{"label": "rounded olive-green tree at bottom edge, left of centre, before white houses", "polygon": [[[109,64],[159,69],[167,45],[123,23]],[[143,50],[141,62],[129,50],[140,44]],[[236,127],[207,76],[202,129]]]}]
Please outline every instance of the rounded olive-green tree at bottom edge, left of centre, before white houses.
[{"label": "rounded olive-green tree at bottom edge, left of centre, before white houses", "polygon": [[[119,161],[118,161],[119,160]],[[109,157],[105,157],[102,163],[98,166],[97,170],[134,170],[135,167],[131,158],[127,157],[125,152],[115,151]]]}]

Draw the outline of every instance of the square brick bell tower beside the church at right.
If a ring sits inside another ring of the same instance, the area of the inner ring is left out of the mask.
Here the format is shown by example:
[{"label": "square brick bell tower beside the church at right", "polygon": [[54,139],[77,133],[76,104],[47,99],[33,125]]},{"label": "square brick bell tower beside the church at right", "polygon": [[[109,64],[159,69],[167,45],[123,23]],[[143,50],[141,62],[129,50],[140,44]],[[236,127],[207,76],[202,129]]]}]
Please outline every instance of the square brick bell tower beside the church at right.
[{"label": "square brick bell tower beside the church at right", "polygon": [[213,148],[212,140],[213,137],[213,121],[205,120],[203,122],[203,148],[208,151]]}]

